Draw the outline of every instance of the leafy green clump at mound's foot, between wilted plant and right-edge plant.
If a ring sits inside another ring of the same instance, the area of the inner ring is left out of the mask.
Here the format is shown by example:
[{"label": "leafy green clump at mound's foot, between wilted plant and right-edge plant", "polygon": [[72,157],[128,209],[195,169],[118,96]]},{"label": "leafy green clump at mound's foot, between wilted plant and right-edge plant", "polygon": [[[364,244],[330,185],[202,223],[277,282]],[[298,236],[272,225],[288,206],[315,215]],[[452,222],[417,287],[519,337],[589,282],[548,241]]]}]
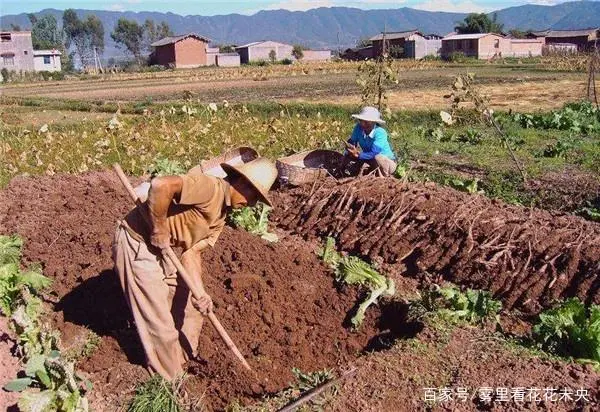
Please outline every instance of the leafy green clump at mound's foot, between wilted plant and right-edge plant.
[{"label": "leafy green clump at mound's foot, between wilted plant and right-edge plant", "polygon": [[454,285],[433,288],[422,293],[420,304],[428,312],[456,320],[478,323],[487,319],[498,319],[502,304],[487,291],[467,289],[461,291]]}]

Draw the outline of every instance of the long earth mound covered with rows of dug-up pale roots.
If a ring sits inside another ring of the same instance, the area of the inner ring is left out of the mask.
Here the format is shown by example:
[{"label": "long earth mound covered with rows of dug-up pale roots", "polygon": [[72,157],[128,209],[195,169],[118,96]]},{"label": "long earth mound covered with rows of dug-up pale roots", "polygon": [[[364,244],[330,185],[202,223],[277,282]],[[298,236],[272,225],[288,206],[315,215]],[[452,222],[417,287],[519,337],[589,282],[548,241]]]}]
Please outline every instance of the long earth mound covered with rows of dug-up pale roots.
[{"label": "long earth mound covered with rows of dug-up pale roots", "polygon": [[537,312],[555,299],[600,303],[600,225],[509,206],[434,184],[325,181],[279,195],[274,220],[408,276],[492,291],[505,307]]}]

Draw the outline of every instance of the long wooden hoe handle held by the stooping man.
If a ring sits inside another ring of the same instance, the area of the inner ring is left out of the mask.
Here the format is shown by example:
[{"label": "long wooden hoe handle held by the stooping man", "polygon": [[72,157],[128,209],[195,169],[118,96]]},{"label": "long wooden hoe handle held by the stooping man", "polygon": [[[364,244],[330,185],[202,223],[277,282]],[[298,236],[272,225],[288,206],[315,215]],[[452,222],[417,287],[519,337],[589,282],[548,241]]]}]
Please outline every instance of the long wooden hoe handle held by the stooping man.
[{"label": "long wooden hoe handle held by the stooping man", "polygon": [[[113,165],[113,168],[115,169],[115,172],[117,173],[117,176],[119,177],[119,180],[121,180],[121,183],[123,183],[123,186],[125,186],[125,189],[127,189],[129,196],[131,196],[131,198],[133,199],[133,201],[135,202],[136,205],[140,205],[142,202],[137,197],[137,194],[133,190],[131,183],[129,183],[127,176],[125,176],[125,173],[123,173],[123,169],[121,169],[121,166],[119,166],[118,163],[115,163]],[[142,214],[142,215],[146,219],[148,219],[148,217],[145,214]],[[146,223],[149,223],[149,222],[146,222]],[[190,291],[192,292],[192,296],[194,296],[196,299],[200,298],[200,294],[198,293],[196,288],[190,287],[190,285],[194,284],[193,282],[191,282],[192,277],[190,276],[188,271],[185,269],[185,267],[181,264],[181,261],[179,260],[179,258],[175,254],[175,252],[173,252],[173,249],[170,246],[163,249],[162,255],[163,255],[164,259],[168,260],[173,266],[175,266],[175,268],[177,269],[177,272],[179,272],[179,275],[181,276],[181,278],[183,279],[185,284],[188,286],[188,289],[190,289]],[[252,368],[250,368],[250,365],[248,365],[248,362],[246,362],[246,359],[244,359],[244,356],[239,351],[237,346],[235,346],[235,343],[233,343],[233,340],[231,340],[231,337],[229,337],[229,334],[227,333],[227,331],[225,330],[223,325],[221,325],[221,322],[219,322],[219,319],[217,319],[217,316],[214,314],[214,312],[212,310],[210,310],[208,312],[208,319],[210,320],[210,323],[212,323],[212,325],[215,327],[215,329],[219,333],[219,336],[221,336],[221,339],[223,339],[223,342],[225,342],[227,347],[229,349],[231,349],[231,351],[239,359],[239,361],[242,362],[242,365],[244,365],[244,367],[246,369],[252,370]]]}]

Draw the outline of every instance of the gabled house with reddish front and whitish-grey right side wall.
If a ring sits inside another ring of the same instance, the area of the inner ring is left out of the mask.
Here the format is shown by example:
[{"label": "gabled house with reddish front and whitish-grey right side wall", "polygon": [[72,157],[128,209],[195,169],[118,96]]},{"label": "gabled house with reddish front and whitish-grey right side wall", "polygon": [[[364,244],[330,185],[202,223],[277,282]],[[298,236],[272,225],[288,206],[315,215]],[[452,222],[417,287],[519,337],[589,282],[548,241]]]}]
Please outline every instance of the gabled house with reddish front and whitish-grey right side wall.
[{"label": "gabled house with reddish front and whitish-grey right side wall", "polygon": [[[373,44],[373,55],[379,56],[383,50],[383,33],[369,39]],[[439,56],[442,47],[438,35],[423,35],[417,30],[386,32],[385,41],[393,57],[422,59],[425,56]],[[395,54],[395,50],[402,50]]]}]

